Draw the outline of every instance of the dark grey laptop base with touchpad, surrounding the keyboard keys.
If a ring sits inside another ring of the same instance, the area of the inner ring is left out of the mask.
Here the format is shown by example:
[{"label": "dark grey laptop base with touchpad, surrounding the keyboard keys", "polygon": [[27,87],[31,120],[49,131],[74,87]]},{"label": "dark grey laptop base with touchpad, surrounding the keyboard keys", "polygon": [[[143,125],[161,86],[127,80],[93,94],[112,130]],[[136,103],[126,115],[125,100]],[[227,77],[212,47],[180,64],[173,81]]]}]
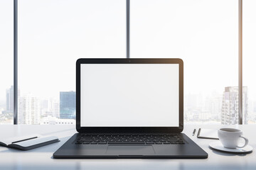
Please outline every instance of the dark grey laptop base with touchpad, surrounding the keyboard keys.
[{"label": "dark grey laptop base with touchpad, surrounding the keyboard keys", "polygon": [[55,159],[206,159],[208,154],[185,134],[183,145],[75,145],[79,133],[70,137],[54,154]]}]

